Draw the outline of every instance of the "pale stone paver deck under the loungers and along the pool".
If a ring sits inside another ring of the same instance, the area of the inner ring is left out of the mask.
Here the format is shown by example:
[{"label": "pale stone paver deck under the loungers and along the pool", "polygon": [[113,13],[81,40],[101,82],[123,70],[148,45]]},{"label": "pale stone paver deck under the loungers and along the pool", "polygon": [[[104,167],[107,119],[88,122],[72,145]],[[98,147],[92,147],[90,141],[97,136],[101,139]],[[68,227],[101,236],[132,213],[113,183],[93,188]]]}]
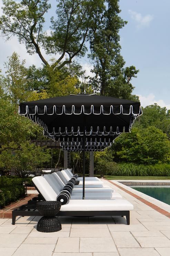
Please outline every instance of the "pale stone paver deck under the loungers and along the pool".
[{"label": "pale stone paver deck under the loungers and along the pool", "polygon": [[146,201],[168,213],[170,205],[117,181],[103,182],[134,205],[130,225],[122,217],[60,217],[61,231],[41,233],[40,217],[19,217],[14,226],[11,219],[0,219],[0,255],[169,256],[170,218]]}]

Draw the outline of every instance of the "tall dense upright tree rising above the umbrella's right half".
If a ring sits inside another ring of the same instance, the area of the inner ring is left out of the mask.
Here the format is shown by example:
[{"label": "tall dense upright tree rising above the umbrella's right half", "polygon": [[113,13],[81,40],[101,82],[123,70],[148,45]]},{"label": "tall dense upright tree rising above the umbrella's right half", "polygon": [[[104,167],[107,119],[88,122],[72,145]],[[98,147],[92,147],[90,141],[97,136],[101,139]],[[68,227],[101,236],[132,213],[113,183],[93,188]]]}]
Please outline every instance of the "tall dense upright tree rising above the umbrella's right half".
[{"label": "tall dense upright tree rising above the umbrella's right half", "polygon": [[[119,0],[106,0],[105,6],[96,8],[90,28],[89,58],[93,63],[90,83],[101,95],[131,99],[134,87],[132,77],[139,70],[134,66],[123,68],[125,62],[120,54],[119,30],[127,24],[119,17]],[[133,98],[132,98],[133,99]]]}]

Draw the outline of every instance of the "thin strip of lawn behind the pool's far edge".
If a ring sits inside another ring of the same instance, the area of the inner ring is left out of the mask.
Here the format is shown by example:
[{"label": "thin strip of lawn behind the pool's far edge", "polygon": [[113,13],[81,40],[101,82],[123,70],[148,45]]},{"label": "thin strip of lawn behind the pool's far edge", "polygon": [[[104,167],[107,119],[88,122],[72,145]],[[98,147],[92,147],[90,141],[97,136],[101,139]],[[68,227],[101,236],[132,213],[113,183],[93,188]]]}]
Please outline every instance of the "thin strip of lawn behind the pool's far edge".
[{"label": "thin strip of lawn behind the pool's far edge", "polygon": [[104,175],[106,180],[170,180],[170,177],[162,176],[107,176]]}]

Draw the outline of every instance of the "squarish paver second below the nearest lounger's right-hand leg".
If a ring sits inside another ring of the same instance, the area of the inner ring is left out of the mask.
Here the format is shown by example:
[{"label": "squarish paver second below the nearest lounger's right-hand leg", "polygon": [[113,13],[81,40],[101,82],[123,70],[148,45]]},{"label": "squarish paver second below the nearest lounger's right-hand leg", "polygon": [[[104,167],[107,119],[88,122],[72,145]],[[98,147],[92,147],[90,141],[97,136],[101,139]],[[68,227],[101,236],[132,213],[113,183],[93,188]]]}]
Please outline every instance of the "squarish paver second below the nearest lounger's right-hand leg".
[{"label": "squarish paver second below the nearest lounger's right-hand leg", "polygon": [[129,231],[115,231],[111,232],[114,243],[117,247],[123,248],[138,248],[139,243],[134,239]]}]

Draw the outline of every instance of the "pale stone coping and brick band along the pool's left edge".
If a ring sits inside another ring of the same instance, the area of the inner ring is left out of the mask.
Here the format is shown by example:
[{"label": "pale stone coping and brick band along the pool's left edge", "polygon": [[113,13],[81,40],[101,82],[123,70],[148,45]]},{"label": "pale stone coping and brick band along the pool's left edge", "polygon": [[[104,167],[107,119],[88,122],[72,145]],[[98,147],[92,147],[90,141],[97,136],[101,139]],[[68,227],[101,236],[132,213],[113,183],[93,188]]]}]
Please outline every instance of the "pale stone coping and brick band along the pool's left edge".
[{"label": "pale stone coping and brick band along the pool's left edge", "polygon": [[163,202],[161,202],[161,201],[159,201],[155,198],[152,198],[149,195],[146,195],[142,192],[134,190],[134,189],[128,187],[127,185],[119,183],[118,181],[112,180],[112,181],[109,181],[109,182],[111,184],[113,184],[114,186],[117,186],[119,189],[123,190],[124,192],[128,193],[129,195],[132,195],[134,198],[136,198],[139,201],[141,201],[142,203],[148,205],[149,207],[156,210],[157,212],[159,212],[159,213],[163,214],[164,216],[170,218],[170,205],[169,204],[163,203]]}]

